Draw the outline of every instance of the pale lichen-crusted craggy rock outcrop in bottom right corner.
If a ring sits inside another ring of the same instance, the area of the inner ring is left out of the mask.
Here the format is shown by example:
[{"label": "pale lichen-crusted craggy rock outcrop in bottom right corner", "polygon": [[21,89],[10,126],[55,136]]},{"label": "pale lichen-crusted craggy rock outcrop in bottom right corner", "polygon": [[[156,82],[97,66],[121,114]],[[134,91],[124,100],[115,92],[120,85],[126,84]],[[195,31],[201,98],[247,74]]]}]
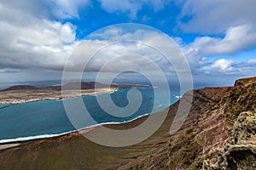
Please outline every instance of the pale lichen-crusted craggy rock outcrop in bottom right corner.
[{"label": "pale lichen-crusted craggy rock outcrop in bottom right corner", "polygon": [[204,161],[203,169],[256,169],[256,113],[241,112],[232,132],[232,144],[215,150],[218,162]]}]

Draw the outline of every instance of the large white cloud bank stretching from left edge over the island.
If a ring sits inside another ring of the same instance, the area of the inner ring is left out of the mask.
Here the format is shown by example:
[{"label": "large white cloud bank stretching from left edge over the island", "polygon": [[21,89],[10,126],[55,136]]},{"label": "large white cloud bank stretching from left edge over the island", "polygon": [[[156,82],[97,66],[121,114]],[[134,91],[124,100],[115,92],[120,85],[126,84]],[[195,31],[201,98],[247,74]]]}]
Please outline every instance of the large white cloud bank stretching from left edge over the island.
[{"label": "large white cloud bank stretching from left edge over the island", "polygon": [[[7,9],[6,12],[11,13]],[[20,13],[17,13],[18,16]],[[19,22],[9,20],[1,21],[0,37],[3,42],[0,42],[0,65],[3,68],[39,68],[61,71],[68,57],[73,53],[74,48],[79,41],[75,40],[75,26],[67,23],[50,21],[47,19],[39,20],[31,15],[22,13],[31,23],[27,26]],[[116,56],[126,55],[127,58],[119,59],[119,63],[112,63],[105,71],[118,72],[123,68],[135,68],[137,70],[152,71],[153,65],[143,64],[143,59],[140,62],[134,62],[129,55],[137,54],[152,59],[153,62],[160,65],[165,71],[172,72],[173,68],[170,63],[166,64],[166,60],[154,48],[160,48],[168,54],[172,54],[172,61],[180,62],[177,59],[177,51],[172,52],[169,44],[166,44],[166,36],[157,31],[145,31],[139,29],[137,31],[126,32],[122,28],[110,27],[99,34],[98,38],[82,41],[81,48],[75,51],[75,58],[72,59],[70,69],[77,70],[83,68],[84,59],[90,59],[91,55],[97,49],[108,45],[113,41],[134,40],[138,42],[119,42],[106,49],[102,50],[90,60],[90,65],[87,71],[99,71],[102,65],[105,65],[109,60]],[[103,40],[98,40],[103,39]],[[141,42],[145,42],[143,44]],[[153,48],[148,47],[148,44],[155,44]],[[177,67],[178,69],[178,67]]]}]

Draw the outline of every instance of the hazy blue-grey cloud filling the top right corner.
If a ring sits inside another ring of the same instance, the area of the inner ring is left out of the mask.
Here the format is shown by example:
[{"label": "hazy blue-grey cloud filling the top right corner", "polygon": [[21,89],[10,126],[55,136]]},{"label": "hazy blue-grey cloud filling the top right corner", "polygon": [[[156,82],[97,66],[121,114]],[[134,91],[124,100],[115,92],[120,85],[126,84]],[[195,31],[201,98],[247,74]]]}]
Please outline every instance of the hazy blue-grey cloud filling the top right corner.
[{"label": "hazy blue-grey cloud filling the top right corner", "polygon": [[254,0],[188,0],[179,3],[183,6],[181,18],[183,31],[205,34],[223,33],[230,26],[256,23],[256,2]]}]

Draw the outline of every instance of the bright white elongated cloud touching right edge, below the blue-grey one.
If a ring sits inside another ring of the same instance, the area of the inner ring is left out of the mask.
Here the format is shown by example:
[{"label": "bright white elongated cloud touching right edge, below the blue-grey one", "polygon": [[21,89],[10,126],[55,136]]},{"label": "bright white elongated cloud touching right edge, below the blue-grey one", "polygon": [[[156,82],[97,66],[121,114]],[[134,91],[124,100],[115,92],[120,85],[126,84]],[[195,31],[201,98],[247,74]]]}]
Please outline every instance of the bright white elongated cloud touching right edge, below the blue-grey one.
[{"label": "bright white elongated cloud touching right edge, below the blue-grey one", "polygon": [[256,31],[249,25],[230,27],[224,38],[197,37],[185,50],[189,54],[210,56],[236,54],[241,50],[252,48],[256,45]]}]

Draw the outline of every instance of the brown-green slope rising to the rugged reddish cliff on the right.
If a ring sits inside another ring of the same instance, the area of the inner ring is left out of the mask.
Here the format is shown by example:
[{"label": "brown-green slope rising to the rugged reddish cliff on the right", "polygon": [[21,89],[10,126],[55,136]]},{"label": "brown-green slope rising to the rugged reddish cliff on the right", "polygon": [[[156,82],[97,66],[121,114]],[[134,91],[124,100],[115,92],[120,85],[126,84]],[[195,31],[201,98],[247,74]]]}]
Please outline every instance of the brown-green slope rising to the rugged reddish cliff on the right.
[{"label": "brown-green slope rising to the rugged reddish cliff on the right", "polygon": [[[255,169],[255,79],[237,80],[232,88],[194,90],[189,116],[172,136],[178,102],[168,108],[158,131],[140,144],[111,148],[70,133],[1,150],[0,169]],[[131,128],[146,118],[105,126]]]}]

